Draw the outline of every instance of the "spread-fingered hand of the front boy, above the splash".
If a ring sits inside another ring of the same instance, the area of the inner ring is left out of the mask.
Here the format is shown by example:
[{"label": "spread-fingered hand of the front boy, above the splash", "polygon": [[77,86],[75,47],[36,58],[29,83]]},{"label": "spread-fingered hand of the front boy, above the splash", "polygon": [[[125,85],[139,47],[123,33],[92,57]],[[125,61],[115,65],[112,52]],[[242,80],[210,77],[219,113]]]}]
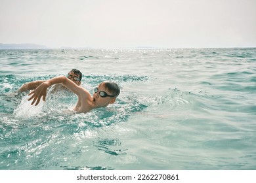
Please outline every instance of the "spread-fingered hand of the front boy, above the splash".
[{"label": "spread-fingered hand of the front boy, above the splash", "polygon": [[41,97],[43,97],[43,101],[45,101],[45,97],[47,95],[47,88],[49,87],[49,84],[47,84],[47,82],[43,82],[42,84],[40,84],[37,88],[35,88],[35,90],[33,90],[32,92],[30,92],[30,94],[28,95],[32,95],[28,101],[32,100],[31,105],[33,105],[35,103],[35,106],[37,106],[41,100]]}]

